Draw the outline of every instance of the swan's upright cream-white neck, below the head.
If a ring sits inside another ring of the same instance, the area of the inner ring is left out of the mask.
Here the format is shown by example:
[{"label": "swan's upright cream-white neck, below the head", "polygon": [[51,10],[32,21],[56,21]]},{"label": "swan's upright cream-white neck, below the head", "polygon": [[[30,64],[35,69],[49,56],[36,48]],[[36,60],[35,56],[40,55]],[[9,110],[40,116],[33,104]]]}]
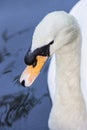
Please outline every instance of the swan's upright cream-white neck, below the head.
[{"label": "swan's upright cream-white neck, below the head", "polygon": [[52,111],[57,110],[54,118],[57,118],[59,124],[68,120],[65,126],[73,130],[86,118],[86,106],[80,87],[79,46],[76,43],[68,44],[55,53],[56,86]]}]

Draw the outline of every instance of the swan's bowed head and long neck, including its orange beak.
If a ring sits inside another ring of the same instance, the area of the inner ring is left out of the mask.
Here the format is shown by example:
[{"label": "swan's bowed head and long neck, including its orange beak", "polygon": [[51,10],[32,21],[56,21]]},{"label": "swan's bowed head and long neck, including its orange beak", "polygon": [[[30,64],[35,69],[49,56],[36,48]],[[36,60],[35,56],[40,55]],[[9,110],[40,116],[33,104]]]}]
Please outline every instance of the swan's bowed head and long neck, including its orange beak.
[{"label": "swan's bowed head and long neck, including its orange beak", "polygon": [[87,111],[80,83],[81,31],[77,20],[64,11],[46,15],[36,26],[27,67],[20,83],[29,87],[48,57],[48,88],[52,99],[50,130],[87,130]]}]

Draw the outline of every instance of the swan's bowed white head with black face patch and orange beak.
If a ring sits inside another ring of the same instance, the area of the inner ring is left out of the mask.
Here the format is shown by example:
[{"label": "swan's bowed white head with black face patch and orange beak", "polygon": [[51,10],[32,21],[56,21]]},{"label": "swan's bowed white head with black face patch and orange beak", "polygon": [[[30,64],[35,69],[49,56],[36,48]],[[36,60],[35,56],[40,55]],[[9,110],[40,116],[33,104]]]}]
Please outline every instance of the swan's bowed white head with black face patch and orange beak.
[{"label": "swan's bowed white head with black face patch and orange beak", "polygon": [[27,67],[21,75],[21,84],[26,87],[31,86],[47,58],[75,40],[78,33],[78,24],[70,14],[57,11],[45,16],[37,25],[32,46],[25,56]]}]

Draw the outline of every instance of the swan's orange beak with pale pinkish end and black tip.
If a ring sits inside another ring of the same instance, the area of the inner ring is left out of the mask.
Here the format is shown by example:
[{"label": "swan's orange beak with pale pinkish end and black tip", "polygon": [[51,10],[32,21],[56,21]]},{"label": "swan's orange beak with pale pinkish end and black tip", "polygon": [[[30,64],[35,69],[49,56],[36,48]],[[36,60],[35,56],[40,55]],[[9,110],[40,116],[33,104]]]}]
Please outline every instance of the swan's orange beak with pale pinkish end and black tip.
[{"label": "swan's orange beak with pale pinkish end and black tip", "polygon": [[33,84],[35,79],[38,77],[40,71],[42,70],[42,67],[46,63],[48,57],[37,56],[36,59],[37,59],[36,66],[34,67],[33,65],[27,66],[20,77],[20,83],[25,87],[29,87]]}]

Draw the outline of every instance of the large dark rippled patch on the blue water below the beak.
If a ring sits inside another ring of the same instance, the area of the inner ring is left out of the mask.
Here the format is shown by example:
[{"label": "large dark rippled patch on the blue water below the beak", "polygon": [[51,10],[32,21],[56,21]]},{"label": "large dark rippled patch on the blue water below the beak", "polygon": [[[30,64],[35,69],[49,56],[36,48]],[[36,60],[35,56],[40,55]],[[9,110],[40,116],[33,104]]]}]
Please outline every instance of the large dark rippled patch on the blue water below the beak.
[{"label": "large dark rippled patch on the blue water below the beak", "polygon": [[18,119],[26,117],[35,105],[41,103],[44,96],[48,96],[47,93],[37,99],[33,91],[28,89],[0,98],[0,126],[12,126]]}]

